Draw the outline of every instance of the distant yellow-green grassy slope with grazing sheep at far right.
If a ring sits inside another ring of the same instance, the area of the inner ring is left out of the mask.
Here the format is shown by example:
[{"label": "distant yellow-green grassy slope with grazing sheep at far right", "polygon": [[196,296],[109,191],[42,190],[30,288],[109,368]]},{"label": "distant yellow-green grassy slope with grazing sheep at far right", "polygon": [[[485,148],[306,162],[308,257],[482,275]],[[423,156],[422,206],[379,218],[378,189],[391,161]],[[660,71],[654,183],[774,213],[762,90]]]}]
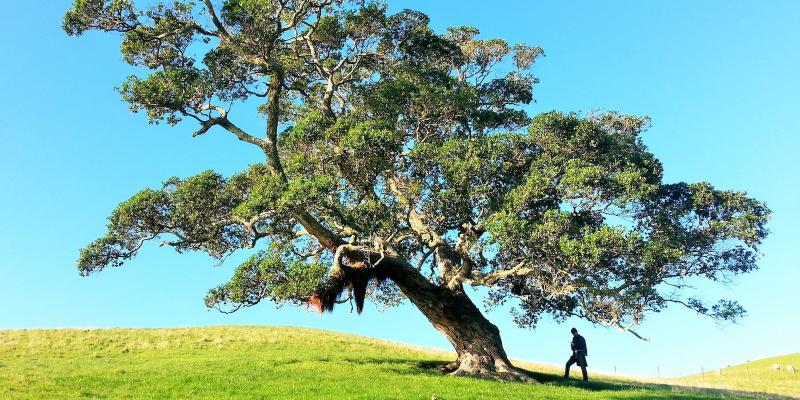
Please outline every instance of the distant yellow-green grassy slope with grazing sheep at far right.
[{"label": "distant yellow-green grassy slope with grazing sheep at far right", "polygon": [[[773,370],[773,364],[780,364],[782,370]],[[756,390],[800,397],[800,372],[787,372],[785,370],[787,365],[800,368],[800,353],[763,358],[722,368],[719,375],[716,371],[708,371],[702,375],[691,375],[677,381],[690,385]]]}]

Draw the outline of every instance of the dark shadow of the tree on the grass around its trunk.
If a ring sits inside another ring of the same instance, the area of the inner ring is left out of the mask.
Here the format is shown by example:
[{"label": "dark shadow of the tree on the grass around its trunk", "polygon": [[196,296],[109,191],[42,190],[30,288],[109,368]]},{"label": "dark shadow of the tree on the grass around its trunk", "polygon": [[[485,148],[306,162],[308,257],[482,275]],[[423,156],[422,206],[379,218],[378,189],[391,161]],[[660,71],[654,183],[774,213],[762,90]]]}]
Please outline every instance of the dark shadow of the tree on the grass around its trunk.
[{"label": "dark shadow of the tree on the grass around its trunk", "polygon": [[[411,362],[409,360],[409,362]],[[428,375],[442,375],[442,367],[447,365],[444,361],[421,361],[413,364],[414,369],[405,371],[407,374],[421,373]],[[416,371],[414,371],[416,370]],[[580,379],[570,378],[565,379],[560,375],[546,374],[542,372],[530,371],[520,368],[522,372],[528,374],[531,378],[544,385],[569,387],[592,392],[622,392],[631,390],[647,390],[653,391],[651,395],[637,395],[637,399],[704,399],[709,398],[728,398],[730,396],[742,398],[760,398],[760,399],[777,399],[777,400],[797,400],[795,397],[779,396],[768,393],[746,392],[740,390],[716,389],[716,388],[703,388],[695,386],[680,386],[668,385],[660,383],[623,383],[623,382],[609,382],[609,381],[592,381],[584,382]],[[401,372],[402,373],[402,372]],[[474,378],[480,379],[480,378]],[[590,376],[591,379],[591,376]],[[607,398],[615,398],[613,394],[607,394]],[[620,395],[620,398],[631,398],[628,395]]]}]

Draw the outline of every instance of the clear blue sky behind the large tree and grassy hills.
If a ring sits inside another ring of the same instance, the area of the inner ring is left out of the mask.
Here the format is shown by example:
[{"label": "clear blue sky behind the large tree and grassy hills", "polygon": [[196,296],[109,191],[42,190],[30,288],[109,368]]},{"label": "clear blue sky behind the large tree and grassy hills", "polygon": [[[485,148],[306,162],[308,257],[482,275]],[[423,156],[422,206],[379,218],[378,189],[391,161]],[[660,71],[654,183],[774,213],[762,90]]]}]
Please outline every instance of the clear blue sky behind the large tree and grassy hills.
[{"label": "clear blue sky behind the large tree and grassy hills", "polygon": [[[78,249],[102,234],[116,204],[166,178],[225,174],[259,154],[212,131],[149,126],[112,88],[132,72],[119,38],[69,38],[68,1],[9,2],[0,14],[0,328],[269,324],[320,327],[430,347],[448,343],[409,306],[362,316],[270,304],[223,315],[206,290],[236,259],[214,268],[199,254],[155,245],[123,269],[81,278]],[[490,5],[491,4],[491,5]],[[569,328],[584,331],[590,366],[688,374],[800,351],[800,2],[399,1],[441,29],[474,25],[484,37],[541,46],[532,113],[613,109],[647,114],[645,142],[669,181],[708,180],[746,190],[773,210],[761,269],[703,295],[735,297],[749,316],[720,327],[687,310],[653,315],[642,342],[582,321],[521,330],[490,313],[515,358],[561,364]],[[253,116],[242,125],[261,129]],[[479,294],[475,294],[476,300]]]}]

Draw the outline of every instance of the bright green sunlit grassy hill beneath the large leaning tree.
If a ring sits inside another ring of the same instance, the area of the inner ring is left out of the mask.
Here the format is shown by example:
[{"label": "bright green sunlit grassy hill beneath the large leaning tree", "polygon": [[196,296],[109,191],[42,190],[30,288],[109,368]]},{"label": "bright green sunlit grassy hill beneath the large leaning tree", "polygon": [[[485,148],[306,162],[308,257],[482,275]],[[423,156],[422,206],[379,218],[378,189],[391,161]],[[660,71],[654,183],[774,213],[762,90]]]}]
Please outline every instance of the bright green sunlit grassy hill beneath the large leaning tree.
[{"label": "bright green sunlit grassy hill beneath the large leaning tree", "polygon": [[709,399],[719,391],[539,371],[543,385],[443,376],[447,352],[278,327],[0,331],[0,399]]}]

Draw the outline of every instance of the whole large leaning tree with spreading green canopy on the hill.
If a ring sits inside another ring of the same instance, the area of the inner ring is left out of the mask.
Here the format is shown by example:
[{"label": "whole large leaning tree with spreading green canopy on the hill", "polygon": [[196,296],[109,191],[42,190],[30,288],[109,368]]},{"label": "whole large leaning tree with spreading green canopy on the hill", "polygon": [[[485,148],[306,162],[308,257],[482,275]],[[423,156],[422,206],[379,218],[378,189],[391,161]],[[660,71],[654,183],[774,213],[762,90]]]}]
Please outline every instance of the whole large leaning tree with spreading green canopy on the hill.
[{"label": "whole large leaning tree with spreading green canopy on the hill", "polygon": [[[81,274],[157,238],[220,260],[255,249],[209,307],[408,299],[452,343],[453,373],[523,380],[465,287],[488,288],[490,307],[513,301],[531,328],[549,314],[631,330],[670,304],[744,314],[682,289],[755,269],[769,210],[663,182],[646,117],[529,117],[540,48],[436,33],[420,12],[371,1],[142,3],[74,0],[64,29],[122,34],[124,60],[149,71],[119,88],[134,112],[227,131],[264,159],[122,202],[81,250]],[[264,135],[231,119],[253,102]]]}]

